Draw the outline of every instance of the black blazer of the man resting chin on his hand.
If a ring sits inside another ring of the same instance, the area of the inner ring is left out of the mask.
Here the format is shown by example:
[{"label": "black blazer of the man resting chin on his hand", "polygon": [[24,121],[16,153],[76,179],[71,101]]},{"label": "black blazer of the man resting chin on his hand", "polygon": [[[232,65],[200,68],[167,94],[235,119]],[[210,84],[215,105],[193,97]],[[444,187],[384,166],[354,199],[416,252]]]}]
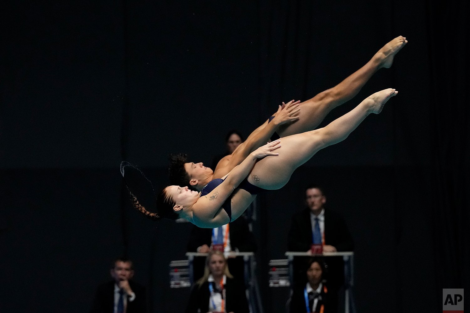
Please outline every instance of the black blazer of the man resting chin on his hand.
[{"label": "black blazer of the man resting chin on his hand", "polygon": [[[147,313],[147,295],[145,287],[137,282],[129,281],[135,299],[127,301],[127,313]],[[114,310],[114,281],[98,286],[94,296],[90,313],[113,313]]]}]

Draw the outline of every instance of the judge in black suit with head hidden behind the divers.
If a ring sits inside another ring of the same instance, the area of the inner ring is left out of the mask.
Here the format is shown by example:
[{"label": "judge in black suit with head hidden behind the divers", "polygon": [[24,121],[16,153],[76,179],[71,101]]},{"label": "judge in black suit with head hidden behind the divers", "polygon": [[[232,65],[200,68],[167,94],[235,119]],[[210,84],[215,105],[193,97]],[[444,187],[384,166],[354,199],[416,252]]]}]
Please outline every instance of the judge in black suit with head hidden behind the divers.
[{"label": "judge in black suit with head hidden behind the divers", "polygon": [[[219,230],[222,232],[219,234]],[[188,241],[188,252],[207,253],[213,244],[223,244],[224,252],[256,252],[256,242],[248,222],[241,216],[221,228],[199,228],[196,225],[191,230]],[[243,281],[243,258],[228,260],[228,268],[235,278]],[[194,260],[194,278],[199,279],[204,271],[204,258]]]}]

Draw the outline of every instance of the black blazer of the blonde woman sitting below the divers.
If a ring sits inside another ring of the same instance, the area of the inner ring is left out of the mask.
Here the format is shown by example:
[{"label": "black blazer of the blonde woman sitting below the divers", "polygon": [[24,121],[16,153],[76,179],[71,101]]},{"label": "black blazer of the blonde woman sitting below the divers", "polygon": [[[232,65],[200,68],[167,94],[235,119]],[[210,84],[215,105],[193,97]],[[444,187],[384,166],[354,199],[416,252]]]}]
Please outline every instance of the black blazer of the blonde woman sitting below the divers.
[{"label": "black blazer of the blonde woman sitting below the divers", "polygon": [[[226,293],[226,311],[234,313],[249,313],[248,302],[246,300],[245,288],[235,279],[227,277],[224,286]],[[194,284],[191,289],[188,307],[186,313],[197,313],[200,309],[201,313],[209,312],[209,282],[204,282],[199,288],[198,284]]]}]

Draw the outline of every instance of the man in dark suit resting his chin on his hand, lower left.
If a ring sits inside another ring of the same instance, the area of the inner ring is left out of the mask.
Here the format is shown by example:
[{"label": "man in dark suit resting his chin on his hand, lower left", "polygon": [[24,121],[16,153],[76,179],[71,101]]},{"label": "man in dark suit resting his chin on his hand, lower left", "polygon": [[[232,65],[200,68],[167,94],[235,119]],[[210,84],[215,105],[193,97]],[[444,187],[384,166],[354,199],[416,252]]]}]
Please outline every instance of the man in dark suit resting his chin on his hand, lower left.
[{"label": "man in dark suit resting his chin on his hand, lower left", "polygon": [[131,260],[118,258],[111,267],[113,281],[98,286],[90,313],[147,313],[145,288],[131,279]]}]

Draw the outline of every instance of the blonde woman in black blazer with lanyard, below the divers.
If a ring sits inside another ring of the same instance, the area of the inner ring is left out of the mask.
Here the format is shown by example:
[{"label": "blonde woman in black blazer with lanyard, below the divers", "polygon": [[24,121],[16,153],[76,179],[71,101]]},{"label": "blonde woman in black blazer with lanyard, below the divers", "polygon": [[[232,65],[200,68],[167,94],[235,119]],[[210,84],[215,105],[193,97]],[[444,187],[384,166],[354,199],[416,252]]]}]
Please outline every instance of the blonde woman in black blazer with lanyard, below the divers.
[{"label": "blonde woman in black blazer with lanyard, below the divers", "polygon": [[186,313],[197,312],[250,312],[245,288],[228,271],[222,252],[209,252],[204,276],[191,289]]}]

